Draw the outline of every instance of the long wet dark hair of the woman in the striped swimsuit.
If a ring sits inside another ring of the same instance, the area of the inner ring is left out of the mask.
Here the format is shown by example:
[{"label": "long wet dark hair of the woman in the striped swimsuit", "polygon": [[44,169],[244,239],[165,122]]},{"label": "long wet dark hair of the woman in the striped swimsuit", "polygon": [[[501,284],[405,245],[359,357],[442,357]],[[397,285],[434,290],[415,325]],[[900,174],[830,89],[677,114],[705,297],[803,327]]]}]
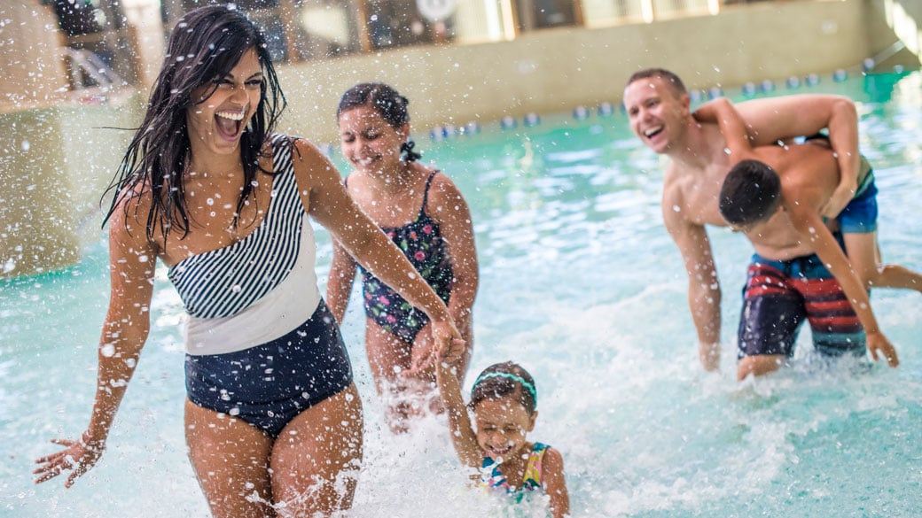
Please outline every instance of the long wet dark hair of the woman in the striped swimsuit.
[{"label": "long wet dark hair of the woman in the striped swimsuit", "polygon": [[[241,135],[244,182],[236,213],[241,212],[253,194],[257,172],[263,171],[258,160],[285,110],[286,100],[266,39],[254,23],[231,6],[205,6],[186,13],[172,30],[147,112],[106,191],[113,196],[105,220],[125,200],[149,191],[152,204],[147,217],[148,239],[153,238],[158,227],[164,239],[170,230],[180,230],[183,236],[188,233],[190,221],[183,187],[190,153],[186,111],[205,102],[218,88],[215,81],[227,76],[250,50],[259,59],[263,84],[253,119]],[[192,91],[204,85],[210,85],[204,98],[192,99]]]}]

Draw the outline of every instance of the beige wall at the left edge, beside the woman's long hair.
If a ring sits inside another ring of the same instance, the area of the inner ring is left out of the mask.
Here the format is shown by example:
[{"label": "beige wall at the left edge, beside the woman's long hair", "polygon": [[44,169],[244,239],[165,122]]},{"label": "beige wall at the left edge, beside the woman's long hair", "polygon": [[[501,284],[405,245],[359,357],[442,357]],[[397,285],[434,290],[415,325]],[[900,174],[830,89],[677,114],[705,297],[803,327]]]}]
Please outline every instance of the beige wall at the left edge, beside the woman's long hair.
[{"label": "beige wall at the left edge, beside the woman's long hair", "polygon": [[0,278],[73,265],[100,239],[100,196],[131,136],[112,128],[136,125],[140,105],[0,112]]}]

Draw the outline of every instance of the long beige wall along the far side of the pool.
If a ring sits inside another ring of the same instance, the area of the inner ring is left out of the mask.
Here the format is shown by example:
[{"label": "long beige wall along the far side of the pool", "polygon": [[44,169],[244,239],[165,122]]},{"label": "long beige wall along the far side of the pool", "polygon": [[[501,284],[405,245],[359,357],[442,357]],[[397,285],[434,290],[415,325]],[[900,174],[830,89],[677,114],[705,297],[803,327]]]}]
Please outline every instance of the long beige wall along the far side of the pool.
[{"label": "long beige wall along the far side of the pool", "polygon": [[419,134],[436,125],[619,102],[626,79],[648,66],[675,71],[689,88],[827,74],[889,46],[895,37],[887,29],[867,0],[764,2],[719,16],[547,29],[514,41],[279,65],[291,108],[283,123],[317,142],[337,142],[338,98],[361,81],[384,81],[406,95]]}]

